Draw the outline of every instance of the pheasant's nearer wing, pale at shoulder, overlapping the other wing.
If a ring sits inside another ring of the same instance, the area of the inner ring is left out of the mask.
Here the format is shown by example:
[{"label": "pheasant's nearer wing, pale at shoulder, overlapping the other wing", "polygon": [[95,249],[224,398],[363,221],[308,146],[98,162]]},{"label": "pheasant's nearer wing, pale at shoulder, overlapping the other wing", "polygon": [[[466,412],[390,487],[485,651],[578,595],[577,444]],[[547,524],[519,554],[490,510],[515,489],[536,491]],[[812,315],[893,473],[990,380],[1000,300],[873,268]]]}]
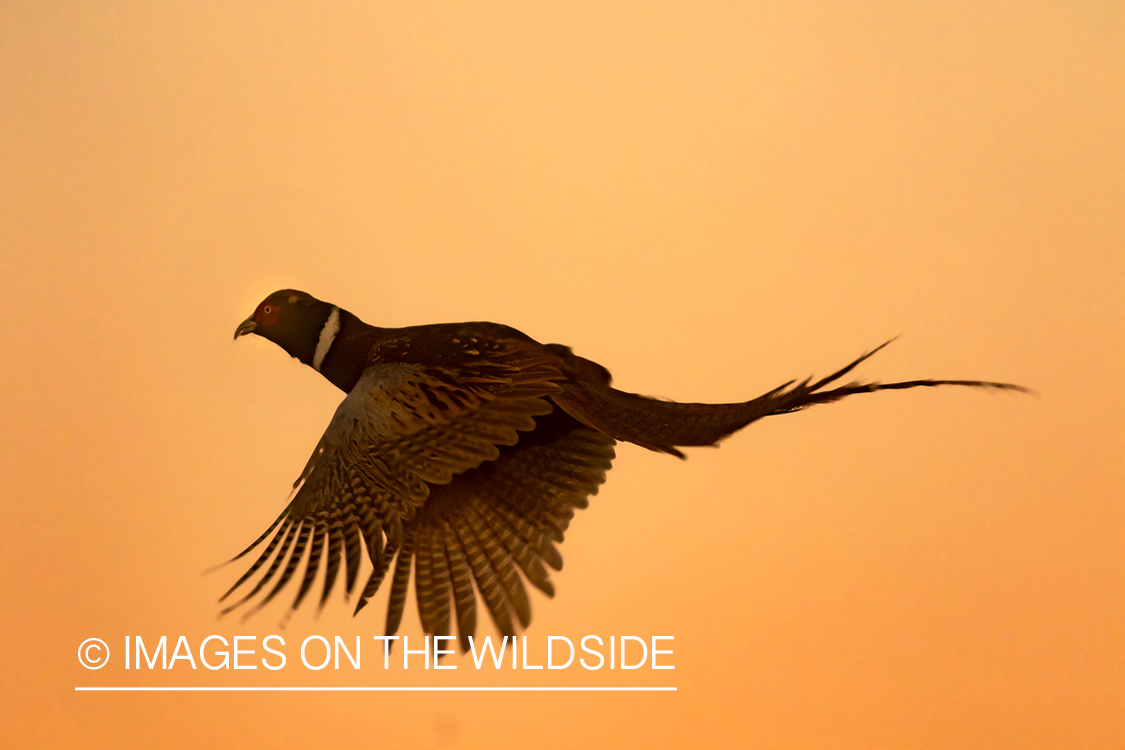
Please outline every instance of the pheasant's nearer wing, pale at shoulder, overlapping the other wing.
[{"label": "pheasant's nearer wing, pale at shoulder, overlapping the other wing", "polygon": [[[459,342],[458,342],[459,343]],[[422,359],[422,358],[416,358]],[[513,340],[472,342],[438,363],[376,361],[340,404],[296,494],[277,521],[237,560],[264,543],[250,569],[220,600],[269,562],[266,573],[223,614],[272,584],[253,611],[305,572],[292,609],[313,587],[325,558],[323,606],[345,566],[356,587],[366,548],[374,570],[357,611],[375,593],[386,562],[405,543],[404,527],[435,488],[500,457],[536,417],[551,412],[543,398],[558,391],[559,360],[549,350]],[[268,540],[268,541],[267,541]]]}]

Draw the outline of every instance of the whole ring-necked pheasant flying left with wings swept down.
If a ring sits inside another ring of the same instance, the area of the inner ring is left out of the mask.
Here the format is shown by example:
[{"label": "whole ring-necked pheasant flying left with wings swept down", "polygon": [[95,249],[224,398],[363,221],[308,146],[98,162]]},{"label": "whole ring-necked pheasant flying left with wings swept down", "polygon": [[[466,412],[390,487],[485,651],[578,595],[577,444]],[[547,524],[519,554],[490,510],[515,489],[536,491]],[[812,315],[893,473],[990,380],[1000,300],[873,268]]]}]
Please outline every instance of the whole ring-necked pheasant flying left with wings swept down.
[{"label": "whole ring-necked pheasant flying left with wings swept down", "polygon": [[386,625],[393,635],[413,562],[422,627],[449,635],[456,617],[462,651],[476,632],[477,593],[504,635],[515,634],[513,615],[523,627],[531,621],[523,578],[554,596],[547,568],[562,566],[555,544],[575,508],[586,507],[605,481],[616,441],[683,458],[683,446],[714,445],[762,417],[853,394],[933,386],[1024,390],[980,380],[835,385],[880,346],[826,378],[790,381],[740,404],[678,404],[616,390],[602,365],[508,326],[378,328],[291,289],[267,297],[234,337],[251,333],[346,396],[294,482],[288,506],[234,558],[266,543],[220,600],[269,562],[266,573],[223,613],[272,582],[253,611],[264,606],[306,552],[289,614],[312,590],[322,559],[323,607],[341,562],[348,594],[356,590],[366,553],[372,570],[356,612],[393,564]]}]

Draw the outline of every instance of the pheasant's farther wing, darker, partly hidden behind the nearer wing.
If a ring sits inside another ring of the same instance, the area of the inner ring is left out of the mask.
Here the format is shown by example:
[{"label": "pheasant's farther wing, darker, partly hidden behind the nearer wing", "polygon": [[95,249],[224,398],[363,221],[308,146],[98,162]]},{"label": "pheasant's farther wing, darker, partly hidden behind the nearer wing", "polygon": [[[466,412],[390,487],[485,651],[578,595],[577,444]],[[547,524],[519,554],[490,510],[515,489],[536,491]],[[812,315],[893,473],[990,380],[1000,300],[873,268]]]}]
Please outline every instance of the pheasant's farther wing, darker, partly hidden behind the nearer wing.
[{"label": "pheasant's farther wing, darker, partly hidden behind the nearer wing", "polygon": [[536,422],[496,460],[431,488],[398,551],[387,635],[402,621],[412,560],[423,630],[448,635],[456,615],[462,651],[476,632],[474,585],[504,635],[515,634],[513,614],[523,627],[531,621],[521,571],[554,596],[543,564],[561,569],[554,542],[562,541],[575,508],[585,508],[605,481],[614,440],[561,410]]}]

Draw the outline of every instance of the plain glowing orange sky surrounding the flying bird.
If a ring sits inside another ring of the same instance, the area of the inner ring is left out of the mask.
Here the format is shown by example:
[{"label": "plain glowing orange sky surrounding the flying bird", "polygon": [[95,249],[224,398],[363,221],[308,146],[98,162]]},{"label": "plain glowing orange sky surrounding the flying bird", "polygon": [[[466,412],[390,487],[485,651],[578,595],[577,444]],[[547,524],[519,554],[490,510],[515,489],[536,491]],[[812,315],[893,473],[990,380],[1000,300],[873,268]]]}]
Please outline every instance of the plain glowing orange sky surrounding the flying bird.
[{"label": "plain glowing orange sky surrounding the flying bird", "polygon": [[[1123,39],[1119,2],[0,3],[0,744],[1125,747]],[[382,672],[386,589],[280,631],[291,593],[217,622],[241,570],[200,575],[341,398],[231,343],[280,287],[681,400],[897,334],[862,376],[1038,396],[621,446],[529,640],[670,634],[675,671]],[[122,665],[274,632],[281,672]],[[73,692],[380,684],[678,692]]]}]

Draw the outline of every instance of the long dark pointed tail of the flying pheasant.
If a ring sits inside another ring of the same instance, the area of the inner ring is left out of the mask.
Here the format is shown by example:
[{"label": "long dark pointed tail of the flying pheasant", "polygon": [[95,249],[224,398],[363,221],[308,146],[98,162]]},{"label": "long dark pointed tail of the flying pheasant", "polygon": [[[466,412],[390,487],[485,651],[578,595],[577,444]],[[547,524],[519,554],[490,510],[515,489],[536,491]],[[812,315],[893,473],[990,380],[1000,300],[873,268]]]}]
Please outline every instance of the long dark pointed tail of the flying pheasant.
[{"label": "long dark pointed tail of the flying pheasant", "polygon": [[935,386],[1027,391],[1022,386],[983,380],[906,380],[888,383],[853,381],[830,387],[890,343],[888,341],[862,354],[850,364],[816,382],[812,382],[811,378],[800,383],[791,380],[767,394],[740,404],[663,401],[587,380],[569,380],[562,383],[561,392],[552,394],[551,400],[583,424],[601,430],[616,440],[684,458],[677,446],[714,445],[762,417],[789,414],[816,404],[838,401],[854,394]]}]

